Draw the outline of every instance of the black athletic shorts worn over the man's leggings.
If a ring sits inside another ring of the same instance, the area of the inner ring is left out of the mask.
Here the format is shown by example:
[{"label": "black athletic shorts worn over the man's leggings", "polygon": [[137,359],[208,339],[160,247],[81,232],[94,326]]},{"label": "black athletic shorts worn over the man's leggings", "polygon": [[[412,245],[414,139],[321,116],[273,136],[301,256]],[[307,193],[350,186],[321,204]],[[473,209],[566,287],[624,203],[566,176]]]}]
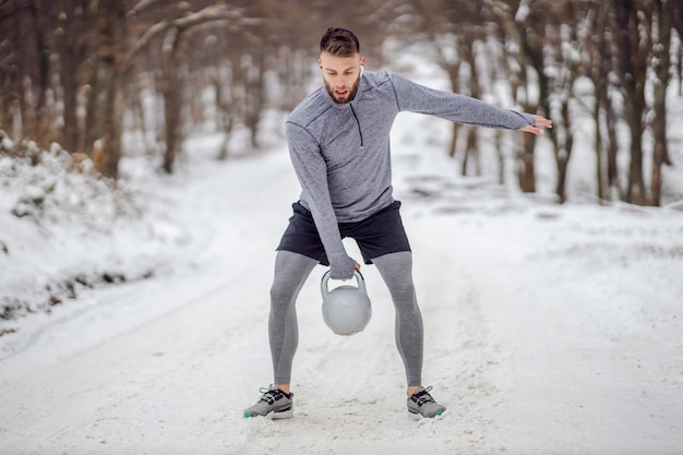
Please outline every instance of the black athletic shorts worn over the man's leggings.
[{"label": "black athletic shorts worn over the man's leggings", "polygon": [[[283,235],[277,250],[291,251],[329,265],[323,242],[313,221],[313,215],[303,205],[296,202],[291,205],[293,215]],[[396,201],[385,208],[357,223],[339,223],[342,238],[351,238],[366,264],[374,258],[399,251],[410,251],[410,243],[400,220],[400,202]]]}]

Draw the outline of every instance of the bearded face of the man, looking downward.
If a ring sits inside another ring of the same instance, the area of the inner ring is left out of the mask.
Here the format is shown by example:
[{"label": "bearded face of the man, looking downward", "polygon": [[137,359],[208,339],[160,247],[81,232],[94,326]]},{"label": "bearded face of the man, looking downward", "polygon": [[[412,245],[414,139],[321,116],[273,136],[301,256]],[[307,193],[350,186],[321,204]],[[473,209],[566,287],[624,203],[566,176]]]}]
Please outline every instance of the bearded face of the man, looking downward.
[{"label": "bearded face of the man, looking downward", "polygon": [[322,52],[317,60],[325,87],[332,99],[339,104],[350,103],[360,84],[360,69],[366,59],[358,53],[351,57],[337,57],[329,52]]}]

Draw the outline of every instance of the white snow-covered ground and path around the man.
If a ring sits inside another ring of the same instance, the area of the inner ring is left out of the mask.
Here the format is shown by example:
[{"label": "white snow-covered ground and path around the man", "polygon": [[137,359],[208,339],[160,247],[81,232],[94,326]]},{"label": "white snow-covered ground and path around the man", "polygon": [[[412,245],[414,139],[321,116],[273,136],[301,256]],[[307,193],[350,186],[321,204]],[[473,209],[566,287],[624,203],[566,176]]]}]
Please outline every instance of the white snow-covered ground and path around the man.
[{"label": "white snow-covered ground and path around the man", "polygon": [[[217,163],[200,137],[171,177],[127,158],[113,199],[4,163],[0,453],[683,454],[683,213],[456,179],[434,124],[399,117],[394,170],[444,416],[407,417],[374,267],[372,321],[339,337],[320,266],[298,302],[295,418],[242,417],[272,380],[273,250],[298,183],[281,141]],[[10,214],[17,188],[49,193],[39,225]]]}]

